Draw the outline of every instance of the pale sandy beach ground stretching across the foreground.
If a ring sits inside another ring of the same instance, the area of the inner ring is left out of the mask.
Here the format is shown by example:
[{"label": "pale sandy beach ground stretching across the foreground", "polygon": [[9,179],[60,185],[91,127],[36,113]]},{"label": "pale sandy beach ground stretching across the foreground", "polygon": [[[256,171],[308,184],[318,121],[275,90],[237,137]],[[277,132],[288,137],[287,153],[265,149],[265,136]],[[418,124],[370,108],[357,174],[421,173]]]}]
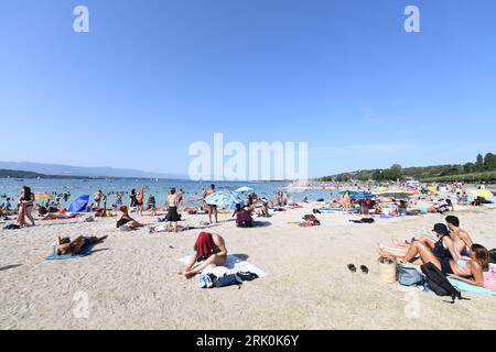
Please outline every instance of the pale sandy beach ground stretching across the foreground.
[{"label": "pale sandy beach ground stretching across the foreground", "polygon": [[[496,298],[464,294],[454,306],[418,293],[418,318],[406,317],[408,299],[397,284],[380,280],[375,248],[391,238],[431,234],[441,215],[348,220],[319,215],[321,227],[289,223],[314,205],[278,212],[270,226],[238,229],[229,216],[208,231],[222,234],[238,254],[268,276],[236,286],[201,289],[177,275],[179,258],[192,254],[200,230],[150,234],[121,232],[115,219],[39,221],[34,228],[0,230],[1,329],[495,329]],[[496,209],[454,212],[475,242],[496,248]],[[141,218],[155,223],[151,217]],[[200,226],[206,216],[187,216]],[[83,258],[45,261],[55,235],[109,238]],[[370,273],[351,273],[347,264]],[[80,293],[88,317],[76,318]]]}]

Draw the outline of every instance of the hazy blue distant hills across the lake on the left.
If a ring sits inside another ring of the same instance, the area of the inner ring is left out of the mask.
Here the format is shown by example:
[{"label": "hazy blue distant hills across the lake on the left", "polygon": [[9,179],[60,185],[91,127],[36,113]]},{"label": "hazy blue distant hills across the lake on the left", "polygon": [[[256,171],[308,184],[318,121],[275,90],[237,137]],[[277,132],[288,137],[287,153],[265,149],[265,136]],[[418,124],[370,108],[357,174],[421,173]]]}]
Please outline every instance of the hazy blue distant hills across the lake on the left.
[{"label": "hazy blue distant hills across the lake on the left", "polygon": [[[42,164],[42,163],[13,163],[0,162],[0,169],[21,170],[39,173],[42,175],[58,175],[69,177],[136,177],[136,178],[185,178],[182,175],[162,174],[152,172],[142,172],[132,168],[112,168],[112,167],[82,167],[60,164]],[[22,177],[19,177],[22,178]]]}]

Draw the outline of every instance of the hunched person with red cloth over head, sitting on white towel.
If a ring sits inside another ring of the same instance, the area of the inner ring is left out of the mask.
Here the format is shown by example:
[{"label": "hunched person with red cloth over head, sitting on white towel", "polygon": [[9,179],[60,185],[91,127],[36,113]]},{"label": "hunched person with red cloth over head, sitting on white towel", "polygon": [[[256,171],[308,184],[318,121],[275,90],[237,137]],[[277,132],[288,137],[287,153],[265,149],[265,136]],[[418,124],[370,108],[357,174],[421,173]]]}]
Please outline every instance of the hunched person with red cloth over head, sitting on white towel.
[{"label": "hunched person with red cloth over head, sitting on white towel", "polygon": [[[192,278],[202,273],[208,265],[225,266],[227,249],[224,239],[217,233],[201,232],[194,246],[195,255],[188,260],[186,267],[180,275]],[[194,265],[200,263],[196,267]]]}]

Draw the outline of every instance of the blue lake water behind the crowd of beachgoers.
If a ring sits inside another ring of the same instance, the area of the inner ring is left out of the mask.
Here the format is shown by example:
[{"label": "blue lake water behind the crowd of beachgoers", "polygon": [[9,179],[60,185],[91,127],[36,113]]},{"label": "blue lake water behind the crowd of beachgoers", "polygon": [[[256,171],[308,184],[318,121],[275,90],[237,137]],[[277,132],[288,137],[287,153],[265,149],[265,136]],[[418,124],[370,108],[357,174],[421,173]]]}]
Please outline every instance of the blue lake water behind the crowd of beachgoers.
[{"label": "blue lake water behind the crowd of beachgoers", "polygon": [[[0,178],[0,195],[11,197],[14,199],[12,204],[17,202],[18,195],[23,185],[31,187],[35,194],[64,194],[71,193],[71,199],[76,199],[78,196],[93,195],[98,189],[107,194],[107,205],[112,205],[116,200],[116,193],[123,194],[123,204],[127,204],[129,193],[132,188],[139,191],[141,185],[147,187],[145,200],[149,195],[155,197],[158,205],[163,205],[166,195],[172,187],[177,190],[185,191],[184,200],[186,205],[195,202],[194,194],[201,195],[202,188],[209,188],[211,182],[191,182],[191,180],[171,180],[171,179],[13,179]],[[215,182],[217,189],[236,190],[241,186],[251,187],[259,197],[273,198],[277,191],[288,191],[289,183],[250,183],[250,182]],[[295,201],[300,201],[304,197],[311,200],[319,198],[328,199],[332,196],[331,190],[304,190],[289,193],[289,197]],[[43,201],[43,200],[41,200]],[[3,198],[0,199],[0,204]],[[67,206],[62,204],[63,207]]]}]

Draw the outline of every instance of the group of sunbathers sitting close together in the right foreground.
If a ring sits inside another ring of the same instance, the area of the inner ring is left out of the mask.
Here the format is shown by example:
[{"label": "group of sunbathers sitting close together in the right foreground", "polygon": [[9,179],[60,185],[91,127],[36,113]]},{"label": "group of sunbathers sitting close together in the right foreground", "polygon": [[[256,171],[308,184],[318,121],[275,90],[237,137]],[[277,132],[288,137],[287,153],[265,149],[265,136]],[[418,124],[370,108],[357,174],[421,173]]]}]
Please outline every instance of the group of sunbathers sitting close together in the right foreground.
[{"label": "group of sunbathers sitting close together in the right foreground", "polygon": [[473,242],[471,235],[460,228],[457,217],[449,216],[445,222],[434,224],[435,239],[425,235],[406,242],[393,240],[390,246],[378,244],[377,251],[381,257],[417,265],[430,262],[446,276],[484,287],[489,251]]}]

